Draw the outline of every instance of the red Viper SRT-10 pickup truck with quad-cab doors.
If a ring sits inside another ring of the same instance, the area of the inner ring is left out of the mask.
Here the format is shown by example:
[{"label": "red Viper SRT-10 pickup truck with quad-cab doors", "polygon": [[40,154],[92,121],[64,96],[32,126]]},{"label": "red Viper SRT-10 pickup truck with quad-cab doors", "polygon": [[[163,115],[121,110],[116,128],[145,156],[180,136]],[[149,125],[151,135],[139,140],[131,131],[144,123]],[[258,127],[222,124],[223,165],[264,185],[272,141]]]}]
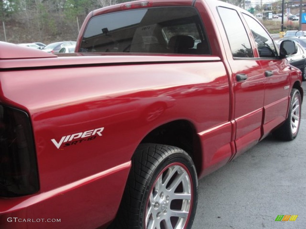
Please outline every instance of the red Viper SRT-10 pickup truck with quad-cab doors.
[{"label": "red Viper SRT-10 pickup truck with quad-cab doors", "polygon": [[295,43],[221,1],[95,10],[68,56],[0,50],[1,228],[191,228],[197,179],[299,130]]}]

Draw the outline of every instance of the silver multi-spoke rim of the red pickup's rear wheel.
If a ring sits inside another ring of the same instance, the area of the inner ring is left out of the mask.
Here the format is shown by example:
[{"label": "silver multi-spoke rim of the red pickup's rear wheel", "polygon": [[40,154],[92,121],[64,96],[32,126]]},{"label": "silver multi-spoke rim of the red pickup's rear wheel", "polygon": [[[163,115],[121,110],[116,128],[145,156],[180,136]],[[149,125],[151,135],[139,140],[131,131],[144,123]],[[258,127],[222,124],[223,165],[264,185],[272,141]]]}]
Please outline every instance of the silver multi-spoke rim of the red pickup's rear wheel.
[{"label": "silver multi-spoke rim of the red pickup's rear wheel", "polygon": [[190,175],[183,165],[170,165],[159,174],[149,195],[146,228],[184,228],[191,203]]}]

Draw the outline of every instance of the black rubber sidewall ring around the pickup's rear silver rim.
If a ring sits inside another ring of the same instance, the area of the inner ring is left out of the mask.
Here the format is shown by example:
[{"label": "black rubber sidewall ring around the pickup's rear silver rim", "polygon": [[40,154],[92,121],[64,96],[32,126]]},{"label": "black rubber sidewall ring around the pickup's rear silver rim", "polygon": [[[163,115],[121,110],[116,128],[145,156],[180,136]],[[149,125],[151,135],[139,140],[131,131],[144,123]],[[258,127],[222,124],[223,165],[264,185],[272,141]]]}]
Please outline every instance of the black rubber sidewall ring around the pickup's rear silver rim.
[{"label": "black rubber sidewall ring around the pickup's rear silver rim", "polygon": [[[183,151],[183,150],[182,150]],[[145,214],[146,214],[146,206],[149,201],[149,195],[153,189],[153,185],[156,182],[156,179],[160,176],[160,174],[167,168],[169,165],[181,164],[182,167],[188,173],[191,185],[192,185],[192,201],[189,209],[189,215],[187,219],[187,224],[185,225],[186,229],[191,228],[194,216],[196,213],[197,199],[198,199],[198,182],[196,169],[192,162],[192,159],[183,152],[175,152],[170,155],[167,155],[163,160],[159,163],[159,165],[152,171],[151,177],[147,182],[145,194],[143,196],[141,206],[140,206],[140,214],[139,214],[139,228],[145,229]]]}]

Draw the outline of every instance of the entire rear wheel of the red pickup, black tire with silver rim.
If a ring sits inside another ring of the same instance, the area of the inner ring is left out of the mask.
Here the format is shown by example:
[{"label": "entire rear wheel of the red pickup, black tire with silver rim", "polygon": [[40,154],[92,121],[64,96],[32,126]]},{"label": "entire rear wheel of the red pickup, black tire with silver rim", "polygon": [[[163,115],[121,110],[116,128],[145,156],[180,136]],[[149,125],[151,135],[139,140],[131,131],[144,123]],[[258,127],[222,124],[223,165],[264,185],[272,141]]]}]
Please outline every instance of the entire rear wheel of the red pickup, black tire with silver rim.
[{"label": "entire rear wheel of the red pickup, black tire with silver rim", "polygon": [[[168,190],[172,185],[173,193]],[[152,224],[159,224],[163,229],[171,228],[167,223],[172,228],[181,223],[177,228],[189,229],[196,213],[197,199],[196,169],[185,151],[167,145],[141,144],[132,157],[122,201],[109,228],[155,229]],[[173,211],[181,217],[174,216]]]}]

